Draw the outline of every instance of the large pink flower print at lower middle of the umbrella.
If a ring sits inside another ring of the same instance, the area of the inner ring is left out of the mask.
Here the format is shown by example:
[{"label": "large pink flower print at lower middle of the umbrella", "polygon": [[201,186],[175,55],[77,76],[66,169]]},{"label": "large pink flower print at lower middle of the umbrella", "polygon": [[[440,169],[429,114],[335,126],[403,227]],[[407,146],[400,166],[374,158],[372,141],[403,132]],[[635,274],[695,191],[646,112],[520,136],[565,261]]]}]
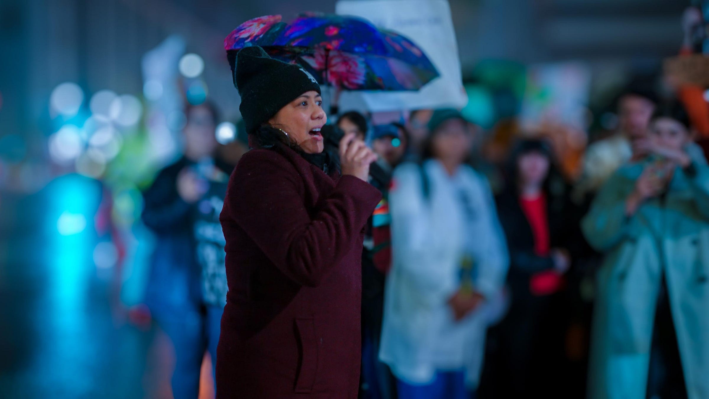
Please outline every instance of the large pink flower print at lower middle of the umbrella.
[{"label": "large pink flower print at lower middle of the umbrella", "polygon": [[357,89],[364,84],[364,60],[357,55],[339,51],[330,51],[326,55],[325,51],[316,51],[314,57],[304,56],[303,60],[323,74],[325,74],[325,60],[327,60],[327,80],[334,87]]}]

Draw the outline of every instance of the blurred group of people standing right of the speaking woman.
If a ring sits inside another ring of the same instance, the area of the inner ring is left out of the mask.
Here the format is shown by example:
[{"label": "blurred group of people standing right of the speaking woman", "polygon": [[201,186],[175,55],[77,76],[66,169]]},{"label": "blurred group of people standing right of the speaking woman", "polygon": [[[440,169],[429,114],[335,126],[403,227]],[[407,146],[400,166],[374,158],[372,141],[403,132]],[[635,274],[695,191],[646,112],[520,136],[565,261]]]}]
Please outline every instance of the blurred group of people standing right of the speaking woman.
[{"label": "blurred group of people standing right of the speaking woman", "polygon": [[615,106],[581,157],[515,131],[502,161],[453,109],[340,117],[393,170],[362,258],[364,397],[709,394],[697,122],[637,83]]}]

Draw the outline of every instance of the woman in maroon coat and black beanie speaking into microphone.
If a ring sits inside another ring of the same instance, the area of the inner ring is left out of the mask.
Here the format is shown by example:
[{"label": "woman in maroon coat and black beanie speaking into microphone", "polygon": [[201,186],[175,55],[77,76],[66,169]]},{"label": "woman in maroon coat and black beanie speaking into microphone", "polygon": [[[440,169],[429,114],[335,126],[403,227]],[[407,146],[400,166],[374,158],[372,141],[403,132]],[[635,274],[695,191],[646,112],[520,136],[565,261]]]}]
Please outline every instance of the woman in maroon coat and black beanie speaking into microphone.
[{"label": "woman in maroon coat and black beanie speaking into microphone", "polygon": [[357,398],[362,231],[381,199],[376,155],[354,138],[323,151],[320,86],[259,47],[229,55],[252,146],[221,224],[229,286],[218,398]]}]

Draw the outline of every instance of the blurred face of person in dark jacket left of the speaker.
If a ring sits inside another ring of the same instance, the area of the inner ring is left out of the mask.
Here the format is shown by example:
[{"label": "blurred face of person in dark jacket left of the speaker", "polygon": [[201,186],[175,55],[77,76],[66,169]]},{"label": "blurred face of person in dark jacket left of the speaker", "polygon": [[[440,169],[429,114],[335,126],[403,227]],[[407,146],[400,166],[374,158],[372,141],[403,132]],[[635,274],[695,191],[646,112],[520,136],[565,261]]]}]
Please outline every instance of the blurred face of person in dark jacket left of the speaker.
[{"label": "blurred face of person in dark jacket left of the speaker", "polygon": [[192,106],[184,126],[184,155],[191,160],[212,156],[218,146],[214,114],[208,106]]}]

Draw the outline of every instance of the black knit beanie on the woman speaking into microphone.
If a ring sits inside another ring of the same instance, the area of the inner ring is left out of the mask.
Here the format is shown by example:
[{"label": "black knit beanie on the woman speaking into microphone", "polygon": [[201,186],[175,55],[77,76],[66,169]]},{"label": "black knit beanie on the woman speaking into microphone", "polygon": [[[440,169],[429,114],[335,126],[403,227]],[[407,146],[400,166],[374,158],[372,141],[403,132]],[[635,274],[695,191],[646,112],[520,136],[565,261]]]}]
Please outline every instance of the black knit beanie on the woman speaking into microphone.
[{"label": "black knit beanie on the woman speaking into microphone", "polygon": [[253,133],[281,108],[311,90],[320,94],[320,84],[298,65],[270,58],[258,46],[228,53],[234,86],[239,90],[239,111],[247,133]]}]

